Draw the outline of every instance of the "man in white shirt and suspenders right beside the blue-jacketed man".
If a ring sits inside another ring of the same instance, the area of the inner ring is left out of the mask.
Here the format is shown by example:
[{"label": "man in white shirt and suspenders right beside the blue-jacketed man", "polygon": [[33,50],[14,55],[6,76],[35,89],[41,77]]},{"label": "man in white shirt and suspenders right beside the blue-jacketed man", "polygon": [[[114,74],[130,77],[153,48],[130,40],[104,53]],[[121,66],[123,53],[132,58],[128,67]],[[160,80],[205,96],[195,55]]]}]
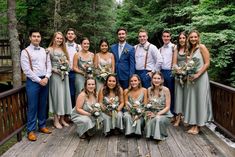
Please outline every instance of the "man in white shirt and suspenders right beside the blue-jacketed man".
[{"label": "man in white shirt and suspenders right beside the blue-jacketed man", "polygon": [[138,33],[139,44],[135,45],[136,74],[141,79],[142,86],[151,86],[151,77],[155,71],[159,71],[162,64],[162,56],[158,48],[148,42],[148,32],[140,29]]}]

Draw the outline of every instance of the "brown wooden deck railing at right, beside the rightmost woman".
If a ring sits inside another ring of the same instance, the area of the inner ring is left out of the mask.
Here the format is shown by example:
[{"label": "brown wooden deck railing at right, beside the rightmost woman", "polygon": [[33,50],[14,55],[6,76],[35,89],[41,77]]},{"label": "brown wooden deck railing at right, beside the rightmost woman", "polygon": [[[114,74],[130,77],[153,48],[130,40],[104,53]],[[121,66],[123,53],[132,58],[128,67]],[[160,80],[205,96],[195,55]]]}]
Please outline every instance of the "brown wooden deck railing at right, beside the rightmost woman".
[{"label": "brown wooden deck railing at right, beside the rightmost woman", "polygon": [[235,89],[211,82],[212,108],[214,123],[235,140]]}]

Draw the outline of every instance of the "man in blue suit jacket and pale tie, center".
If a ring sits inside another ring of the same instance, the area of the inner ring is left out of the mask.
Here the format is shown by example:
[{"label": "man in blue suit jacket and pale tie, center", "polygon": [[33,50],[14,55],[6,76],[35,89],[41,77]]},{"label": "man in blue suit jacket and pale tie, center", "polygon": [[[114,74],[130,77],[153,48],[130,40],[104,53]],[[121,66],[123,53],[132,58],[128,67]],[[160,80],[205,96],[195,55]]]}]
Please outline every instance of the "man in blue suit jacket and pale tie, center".
[{"label": "man in blue suit jacket and pale tie, center", "polygon": [[126,42],[127,30],[117,30],[118,43],[111,46],[115,58],[115,72],[123,89],[128,88],[129,78],[135,73],[135,49]]}]

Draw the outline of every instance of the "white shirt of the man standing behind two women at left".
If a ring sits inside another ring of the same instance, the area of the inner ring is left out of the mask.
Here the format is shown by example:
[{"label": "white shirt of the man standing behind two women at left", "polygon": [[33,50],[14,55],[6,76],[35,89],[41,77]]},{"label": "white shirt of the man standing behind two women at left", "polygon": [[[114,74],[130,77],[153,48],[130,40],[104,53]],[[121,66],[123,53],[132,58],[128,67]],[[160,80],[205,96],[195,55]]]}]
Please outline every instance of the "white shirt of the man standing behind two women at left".
[{"label": "white shirt of the man standing behind two women at left", "polygon": [[69,67],[70,69],[73,68],[73,57],[76,52],[79,52],[82,50],[81,46],[75,42],[69,43],[66,42],[66,48],[69,54]]}]

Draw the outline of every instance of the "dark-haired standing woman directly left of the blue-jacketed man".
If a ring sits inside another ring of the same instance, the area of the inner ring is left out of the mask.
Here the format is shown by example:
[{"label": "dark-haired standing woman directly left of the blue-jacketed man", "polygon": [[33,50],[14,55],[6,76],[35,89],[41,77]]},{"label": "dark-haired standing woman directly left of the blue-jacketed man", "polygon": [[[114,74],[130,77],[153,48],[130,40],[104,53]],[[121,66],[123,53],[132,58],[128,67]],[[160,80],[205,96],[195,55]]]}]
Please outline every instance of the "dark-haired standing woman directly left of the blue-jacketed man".
[{"label": "dark-haired standing woman directly left of the blue-jacketed man", "polygon": [[[98,52],[95,55],[95,67],[99,72],[99,76],[102,73],[114,73],[115,70],[115,61],[114,56],[112,53],[108,52],[109,50],[109,43],[107,39],[101,39],[99,43],[100,52]],[[107,76],[106,76],[107,77]],[[97,90],[101,88],[101,86],[104,84],[106,78],[98,78],[96,80],[97,82]]]}]

